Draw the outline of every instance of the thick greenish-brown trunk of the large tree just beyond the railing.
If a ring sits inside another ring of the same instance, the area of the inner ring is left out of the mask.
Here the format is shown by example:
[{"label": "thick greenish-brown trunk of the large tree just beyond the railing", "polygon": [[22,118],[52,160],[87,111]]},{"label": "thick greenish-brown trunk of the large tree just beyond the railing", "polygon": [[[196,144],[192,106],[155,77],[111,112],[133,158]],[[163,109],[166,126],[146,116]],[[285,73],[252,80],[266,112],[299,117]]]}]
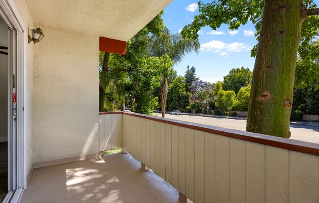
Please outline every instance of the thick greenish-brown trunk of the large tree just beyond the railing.
[{"label": "thick greenish-brown trunk of the large tree just beyond the railing", "polygon": [[302,0],[265,0],[247,131],[290,137],[296,56],[305,12]]}]

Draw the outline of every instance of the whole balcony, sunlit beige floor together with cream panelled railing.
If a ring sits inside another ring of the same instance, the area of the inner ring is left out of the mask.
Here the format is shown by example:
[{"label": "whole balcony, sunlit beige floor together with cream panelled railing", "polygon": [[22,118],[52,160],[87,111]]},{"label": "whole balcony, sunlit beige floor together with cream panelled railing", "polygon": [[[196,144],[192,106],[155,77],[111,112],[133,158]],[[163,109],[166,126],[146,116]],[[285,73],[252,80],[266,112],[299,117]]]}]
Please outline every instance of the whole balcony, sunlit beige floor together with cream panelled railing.
[{"label": "whole balcony, sunlit beige floor together with cream panelled railing", "polygon": [[100,113],[99,142],[128,154],[34,169],[21,202],[319,202],[316,143],[129,112]]}]

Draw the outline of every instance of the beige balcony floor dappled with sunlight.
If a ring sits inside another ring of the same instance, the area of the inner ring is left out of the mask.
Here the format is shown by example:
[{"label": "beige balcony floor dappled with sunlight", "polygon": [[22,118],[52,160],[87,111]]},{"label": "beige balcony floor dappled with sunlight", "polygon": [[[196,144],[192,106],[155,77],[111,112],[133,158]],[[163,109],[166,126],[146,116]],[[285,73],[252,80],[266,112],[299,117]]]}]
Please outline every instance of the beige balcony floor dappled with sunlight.
[{"label": "beige balcony floor dappled with sunlight", "polygon": [[34,169],[20,203],[178,203],[178,191],[130,154]]}]

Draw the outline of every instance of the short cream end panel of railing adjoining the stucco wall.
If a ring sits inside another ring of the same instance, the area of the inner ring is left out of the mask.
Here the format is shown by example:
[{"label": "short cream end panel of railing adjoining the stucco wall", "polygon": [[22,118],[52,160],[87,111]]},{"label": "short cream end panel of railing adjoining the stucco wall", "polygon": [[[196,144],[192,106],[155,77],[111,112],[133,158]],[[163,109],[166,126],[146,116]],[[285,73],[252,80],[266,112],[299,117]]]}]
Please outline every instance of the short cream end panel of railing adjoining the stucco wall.
[{"label": "short cream end panel of railing adjoining the stucco wall", "polygon": [[99,151],[122,148],[122,114],[100,114]]}]

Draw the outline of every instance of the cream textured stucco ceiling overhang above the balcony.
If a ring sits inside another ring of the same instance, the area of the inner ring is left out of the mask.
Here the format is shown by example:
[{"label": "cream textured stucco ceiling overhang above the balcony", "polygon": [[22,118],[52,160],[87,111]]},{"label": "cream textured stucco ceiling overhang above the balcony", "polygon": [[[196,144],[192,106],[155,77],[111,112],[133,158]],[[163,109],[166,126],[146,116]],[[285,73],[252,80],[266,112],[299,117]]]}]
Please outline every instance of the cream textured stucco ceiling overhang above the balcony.
[{"label": "cream textured stucco ceiling overhang above the balcony", "polygon": [[129,41],[171,1],[26,0],[26,4],[34,23]]}]

